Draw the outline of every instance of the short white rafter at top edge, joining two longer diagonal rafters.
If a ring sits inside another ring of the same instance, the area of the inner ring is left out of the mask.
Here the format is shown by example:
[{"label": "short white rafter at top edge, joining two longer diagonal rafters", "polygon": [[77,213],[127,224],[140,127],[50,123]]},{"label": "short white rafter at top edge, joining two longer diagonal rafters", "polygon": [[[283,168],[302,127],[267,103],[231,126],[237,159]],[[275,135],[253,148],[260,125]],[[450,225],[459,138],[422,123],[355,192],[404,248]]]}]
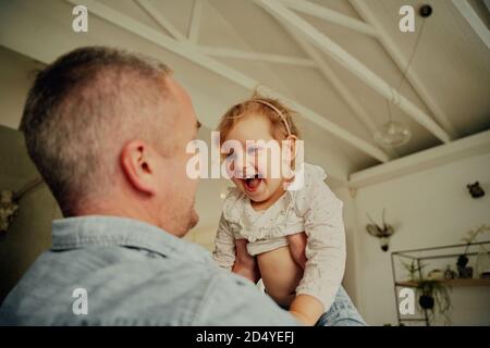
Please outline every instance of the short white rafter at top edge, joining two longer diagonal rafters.
[{"label": "short white rafter at top edge, joining two longer diagonal rafters", "polygon": [[302,12],[328,21],[330,23],[341,25],[357,33],[370,36],[378,35],[378,33],[372,26],[359,20],[350,17],[348,15],[342,14],[340,12],[333,11],[331,9],[306,0],[281,0],[281,3],[284,4],[286,8],[295,10],[296,12]]}]

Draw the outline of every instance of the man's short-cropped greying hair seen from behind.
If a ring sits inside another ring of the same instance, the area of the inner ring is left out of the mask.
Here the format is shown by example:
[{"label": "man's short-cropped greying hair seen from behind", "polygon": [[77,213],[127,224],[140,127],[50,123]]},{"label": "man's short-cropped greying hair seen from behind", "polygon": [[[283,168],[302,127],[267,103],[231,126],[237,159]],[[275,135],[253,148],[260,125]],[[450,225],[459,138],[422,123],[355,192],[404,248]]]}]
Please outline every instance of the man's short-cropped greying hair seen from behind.
[{"label": "man's short-cropped greying hair seen from behind", "polygon": [[126,141],[171,146],[159,137],[173,123],[163,108],[170,74],[154,59],[106,47],[76,49],[37,73],[21,130],[65,216],[110,186]]}]

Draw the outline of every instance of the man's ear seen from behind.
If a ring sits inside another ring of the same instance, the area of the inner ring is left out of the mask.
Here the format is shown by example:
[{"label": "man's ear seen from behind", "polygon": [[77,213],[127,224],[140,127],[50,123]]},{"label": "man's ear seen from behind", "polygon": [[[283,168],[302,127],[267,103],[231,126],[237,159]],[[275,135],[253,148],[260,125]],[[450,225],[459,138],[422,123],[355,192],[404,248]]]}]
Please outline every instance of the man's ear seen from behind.
[{"label": "man's ear seen from behind", "polygon": [[156,159],[157,153],[142,140],[127,142],[121,152],[121,166],[127,181],[146,195],[157,192]]}]

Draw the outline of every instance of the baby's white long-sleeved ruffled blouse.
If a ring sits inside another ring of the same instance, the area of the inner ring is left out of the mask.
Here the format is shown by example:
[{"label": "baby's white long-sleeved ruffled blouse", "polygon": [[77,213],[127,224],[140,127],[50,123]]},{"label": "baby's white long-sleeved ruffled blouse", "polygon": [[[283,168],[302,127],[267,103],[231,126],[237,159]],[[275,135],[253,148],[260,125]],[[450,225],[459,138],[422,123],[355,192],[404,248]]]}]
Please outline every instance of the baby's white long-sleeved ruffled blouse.
[{"label": "baby's white long-sleeved ruffled blouse", "polygon": [[304,163],[302,171],[285,194],[265,211],[255,211],[249,199],[236,187],[229,189],[213,259],[220,266],[231,270],[236,239],[247,239],[247,250],[255,256],[286,246],[287,235],[305,232],[307,262],[296,295],[316,297],[327,311],[345,270],[342,201],[323,182],[327,175],[321,167]]}]

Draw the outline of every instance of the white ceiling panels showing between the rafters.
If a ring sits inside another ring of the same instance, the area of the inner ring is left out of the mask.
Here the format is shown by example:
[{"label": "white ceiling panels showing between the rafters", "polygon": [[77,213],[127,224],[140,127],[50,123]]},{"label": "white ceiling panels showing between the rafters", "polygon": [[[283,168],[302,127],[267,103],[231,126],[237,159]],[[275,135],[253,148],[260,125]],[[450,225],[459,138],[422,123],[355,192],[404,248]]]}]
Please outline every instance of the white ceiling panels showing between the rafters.
[{"label": "white ceiling panels showing between the rafters", "polygon": [[[280,4],[289,2],[281,1],[279,1]],[[194,0],[147,0],[146,3],[152,7],[151,11],[143,10],[142,5],[133,0],[100,0],[100,2],[172,37],[172,30],[162,28],[152,18],[152,16],[157,20],[163,16],[175,30],[182,34],[184,39],[187,39],[193,22]],[[203,11],[199,16],[197,41],[189,42],[191,45],[208,49],[224,48],[309,59],[285,30],[289,26],[287,22],[278,21],[258,3],[249,0],[201,0],[200,2]],[[296,2],[302,3],[303,0]],[[354,7],[356,1],[310,0],[309,2],[365,22]],[[452,136],[452,139],[488,129],[490,126],[490,51],[452,1],[365,1],[377,24],[384,29],[389,39],[395,45],[394,49],[403,54],[405,62],[413,53],[421,20],[419,16],[416,17],[416,33],[401,33],[399,10],[404,4],[412,4],[418,9],[421,3],[430,3],[433,7],[433,14],[426,20],[409,74],[416,76],[422,89],[414,88],[407,79],[401,84],[401,70],[379,39],[301,11],[294,11],[294,13],[340,45],[389,85],[395,88],[401,85],[400,92],[436,121]],[[485,15],[488,16],[488,12]],[[371,124],[379,126],[388,120],[385,98],[331,57],[316,50],[348,92],[355,97],[356,102],[364,109],[364,113],[370,117]],[[373,144],[369,127],[358,119],[331,80],[326,78],[317,67],[241,58],[212,58],[307,107],[355,137]],[[425,98],[430,100],[430,107],[427,100],[424,100]],[[405,122],[413,132],[413,139],[407,145],[394,151],[385,150],[391,158],[403,157],[442,144],[438,137],[396,105],[391,105],[391,110],[393,119]],[[205,120],[205,123],[213,127],[218,119],[219,115],[212,115],[210,120]],[[357,171],[379,163],[377,159],[318,125],[305,120],[301,124],[307,141],[319,148],[334,149],[346,157],[350,163],[348,171]]]}]

